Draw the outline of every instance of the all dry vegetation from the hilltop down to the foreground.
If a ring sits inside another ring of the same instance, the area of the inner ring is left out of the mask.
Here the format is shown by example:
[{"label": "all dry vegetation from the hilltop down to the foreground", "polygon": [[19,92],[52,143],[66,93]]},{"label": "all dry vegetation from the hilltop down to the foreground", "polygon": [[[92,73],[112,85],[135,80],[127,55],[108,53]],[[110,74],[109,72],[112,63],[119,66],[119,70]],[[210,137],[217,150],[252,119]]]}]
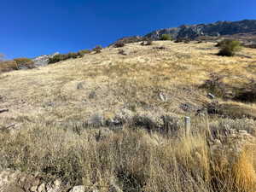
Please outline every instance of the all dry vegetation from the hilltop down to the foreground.
[{"label": "all dry vegetation from the hilltop down to the foreground", "polygon": [[[109,47],[0,74],[0,168],[88,191],[255,191],[256,105],[236,98],[255,90],[256,51],[220,57],[214,45],[125,44],[126,55]],[[223,78],[211,101],[213,73]],[[196,116],[203,108],[214,113]]]}]

